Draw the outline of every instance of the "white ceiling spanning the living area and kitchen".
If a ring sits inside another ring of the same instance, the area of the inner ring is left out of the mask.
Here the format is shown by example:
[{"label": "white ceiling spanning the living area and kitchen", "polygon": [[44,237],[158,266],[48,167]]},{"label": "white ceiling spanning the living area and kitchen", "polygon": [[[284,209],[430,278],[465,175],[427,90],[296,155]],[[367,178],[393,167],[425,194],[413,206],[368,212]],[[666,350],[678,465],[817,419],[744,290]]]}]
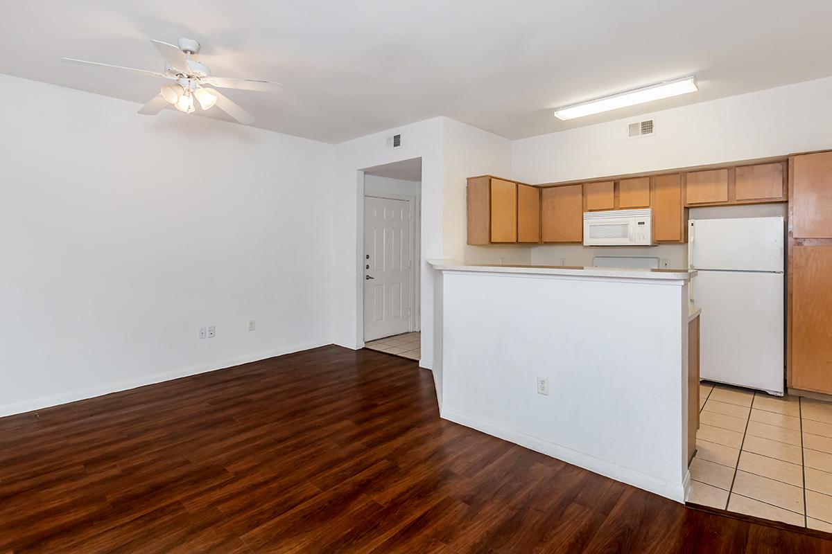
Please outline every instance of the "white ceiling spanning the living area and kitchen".
[{"label": "white ceiling spanning the living area and kitchen", "polygon": [[[159,82],[61,56],[160,70],[148,39],[192,37],[215,75],[284,84],[228,93],[265,129],[339,142],[447,115],[518,139],[830,76],[830,21],[830,0],[2,2],[0,72],[144,103]],[[689,73],[701,91],[552,116]]]}]

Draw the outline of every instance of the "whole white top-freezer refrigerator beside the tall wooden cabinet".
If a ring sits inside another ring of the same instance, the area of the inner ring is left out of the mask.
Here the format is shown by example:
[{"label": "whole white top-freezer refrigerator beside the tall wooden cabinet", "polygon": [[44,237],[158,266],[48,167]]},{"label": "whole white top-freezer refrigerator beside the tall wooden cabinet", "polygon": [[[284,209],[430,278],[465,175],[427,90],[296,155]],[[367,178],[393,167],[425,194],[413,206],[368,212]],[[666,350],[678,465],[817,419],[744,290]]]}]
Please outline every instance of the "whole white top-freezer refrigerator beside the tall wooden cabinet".
[{"label": "whole white top-freezer refrigerator beside the tall wooden cabinet", "polygon": [[782,217],[691,219],[691,302],[702,309],[700,376],[783,395]]}]

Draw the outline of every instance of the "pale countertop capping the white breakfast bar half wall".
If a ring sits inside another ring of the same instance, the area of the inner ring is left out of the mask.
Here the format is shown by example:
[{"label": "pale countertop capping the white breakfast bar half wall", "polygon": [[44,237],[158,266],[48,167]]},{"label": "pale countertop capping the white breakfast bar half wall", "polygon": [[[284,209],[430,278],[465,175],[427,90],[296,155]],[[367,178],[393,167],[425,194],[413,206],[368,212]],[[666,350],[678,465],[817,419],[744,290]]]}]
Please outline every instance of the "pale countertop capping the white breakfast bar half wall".
[{"label": "pale countertop capping the white breakfast bar half wall", "polygon": [[434,269],[463,272],[489,273],[537,273],[544,275],[569,275],[574,277],[618,277],[626,279],[651,279],[668,281],[687,281],[696,275],[695,270],[687,269],[631,269],[626,267],[579,267],[579,266],[522,266],[522,265],[488,265],[465,263],[457,260],[428,260]]}]

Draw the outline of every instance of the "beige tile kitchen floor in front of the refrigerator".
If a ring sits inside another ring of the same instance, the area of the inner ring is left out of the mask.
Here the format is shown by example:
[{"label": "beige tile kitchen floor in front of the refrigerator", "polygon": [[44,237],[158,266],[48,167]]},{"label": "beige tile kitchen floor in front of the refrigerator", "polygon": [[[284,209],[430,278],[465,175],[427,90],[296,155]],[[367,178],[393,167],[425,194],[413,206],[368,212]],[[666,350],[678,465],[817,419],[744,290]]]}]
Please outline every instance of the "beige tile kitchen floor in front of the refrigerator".
[{"label": "beige tile kitchen floor in front of the refrigerator", "polygon": [[688,501],[832,532],[832,403],[703,381]]}]

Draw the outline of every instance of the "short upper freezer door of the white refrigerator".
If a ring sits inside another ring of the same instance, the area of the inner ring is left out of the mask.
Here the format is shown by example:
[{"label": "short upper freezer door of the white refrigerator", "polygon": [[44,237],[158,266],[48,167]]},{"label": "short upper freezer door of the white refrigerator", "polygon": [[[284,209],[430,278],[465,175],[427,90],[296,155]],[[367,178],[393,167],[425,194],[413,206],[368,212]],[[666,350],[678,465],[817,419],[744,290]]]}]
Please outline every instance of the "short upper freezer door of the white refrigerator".
[{"label": "short upper freezer door of the white refrigerator", "polygon": [[784,241],[782,216],[691,219],[688,265],[695,269],[781,272]]}]

